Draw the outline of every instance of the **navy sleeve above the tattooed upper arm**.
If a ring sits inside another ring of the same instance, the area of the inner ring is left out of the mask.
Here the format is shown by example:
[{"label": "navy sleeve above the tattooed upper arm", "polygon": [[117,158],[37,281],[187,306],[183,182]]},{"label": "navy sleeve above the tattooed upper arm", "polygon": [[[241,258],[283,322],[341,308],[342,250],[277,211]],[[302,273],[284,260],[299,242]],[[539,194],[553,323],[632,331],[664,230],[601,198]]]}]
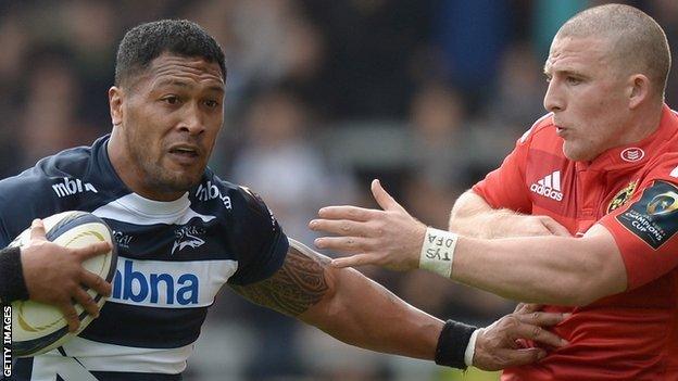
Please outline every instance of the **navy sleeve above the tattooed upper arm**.
[{"label": "navy sleeve above the tattooed upper arm", "polygon": [[[244,187],[234,191],[241,203],[229,240],[238,254],[238,270],[229,278],[234,284],[249,284],[273,276],[285,262],[289,242],[264,201]],[[235,205],[234,205],[235,207]]]}]

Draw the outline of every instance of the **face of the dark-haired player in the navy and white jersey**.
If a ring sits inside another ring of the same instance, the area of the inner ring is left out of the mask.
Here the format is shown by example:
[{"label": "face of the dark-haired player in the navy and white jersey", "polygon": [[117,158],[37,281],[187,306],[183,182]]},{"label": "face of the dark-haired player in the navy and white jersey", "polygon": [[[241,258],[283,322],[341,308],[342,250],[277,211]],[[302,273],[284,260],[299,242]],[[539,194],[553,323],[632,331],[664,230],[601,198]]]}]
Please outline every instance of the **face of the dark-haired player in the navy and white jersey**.
[{"label": "face of the dark-haired player in the navy and white jersey", "polygon": [[177,199],[200,181],[224,120],[221,67],[163,54],[133,80],[121,97],[124,161],[116,169],[137,193]]}]

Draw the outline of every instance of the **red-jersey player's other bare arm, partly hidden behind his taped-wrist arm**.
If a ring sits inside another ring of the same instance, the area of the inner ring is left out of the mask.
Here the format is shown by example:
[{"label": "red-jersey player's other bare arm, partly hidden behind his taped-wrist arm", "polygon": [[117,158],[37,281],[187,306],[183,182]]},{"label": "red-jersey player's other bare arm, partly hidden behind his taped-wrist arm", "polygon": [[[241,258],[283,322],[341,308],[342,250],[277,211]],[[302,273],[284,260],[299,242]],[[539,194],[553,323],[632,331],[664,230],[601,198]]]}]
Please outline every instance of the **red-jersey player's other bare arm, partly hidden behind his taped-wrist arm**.
[{"label": "red-jersey player's other bare arm, partly hidden behind his taped-wrist arm", "polygon": [[[373,183],[373,188],[378,186]],[[454,202],[450,213],[449,230],[475,238],[563,236],[567,228],[549,216],[518,214],[495,209],[473,190],[467,190]]]}]

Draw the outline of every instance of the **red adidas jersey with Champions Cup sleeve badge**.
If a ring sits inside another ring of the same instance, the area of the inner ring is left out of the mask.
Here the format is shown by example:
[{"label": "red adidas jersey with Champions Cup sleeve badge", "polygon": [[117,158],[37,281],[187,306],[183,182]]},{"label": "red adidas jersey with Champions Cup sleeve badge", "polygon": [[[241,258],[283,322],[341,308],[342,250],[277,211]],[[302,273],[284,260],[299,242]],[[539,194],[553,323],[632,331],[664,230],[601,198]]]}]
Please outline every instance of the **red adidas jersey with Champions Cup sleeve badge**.
[{"label": "red adidas jersey with Champions Cup sleeve badge", "polygon": [[655,132],[592,162],[563,154],[551,114],[474,187],[494,208],[547,215],[581,237],[613,234],[626,292],[587,306],[548,306],[572,317],[553,332],[569,345],[502,380],[678,380],[678,115],[666,105]]}]

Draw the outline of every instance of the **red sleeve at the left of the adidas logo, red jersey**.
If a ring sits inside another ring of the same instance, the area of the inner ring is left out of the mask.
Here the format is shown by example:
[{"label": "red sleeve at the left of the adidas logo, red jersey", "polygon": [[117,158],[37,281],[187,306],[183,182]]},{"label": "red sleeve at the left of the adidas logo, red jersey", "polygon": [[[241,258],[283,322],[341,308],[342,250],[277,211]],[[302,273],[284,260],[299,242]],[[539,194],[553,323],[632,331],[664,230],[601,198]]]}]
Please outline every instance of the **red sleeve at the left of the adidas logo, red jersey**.
[{"label": "red sleeve at the left of the adidas logo, red jersey", "polygon": [[531,141],[528,134],[516,142],[513,152],[499,168],[473,187],[473,191],[493,208],[508,208],[526,214],[531,212],[532,203],[525,186],[527,152]]}]

